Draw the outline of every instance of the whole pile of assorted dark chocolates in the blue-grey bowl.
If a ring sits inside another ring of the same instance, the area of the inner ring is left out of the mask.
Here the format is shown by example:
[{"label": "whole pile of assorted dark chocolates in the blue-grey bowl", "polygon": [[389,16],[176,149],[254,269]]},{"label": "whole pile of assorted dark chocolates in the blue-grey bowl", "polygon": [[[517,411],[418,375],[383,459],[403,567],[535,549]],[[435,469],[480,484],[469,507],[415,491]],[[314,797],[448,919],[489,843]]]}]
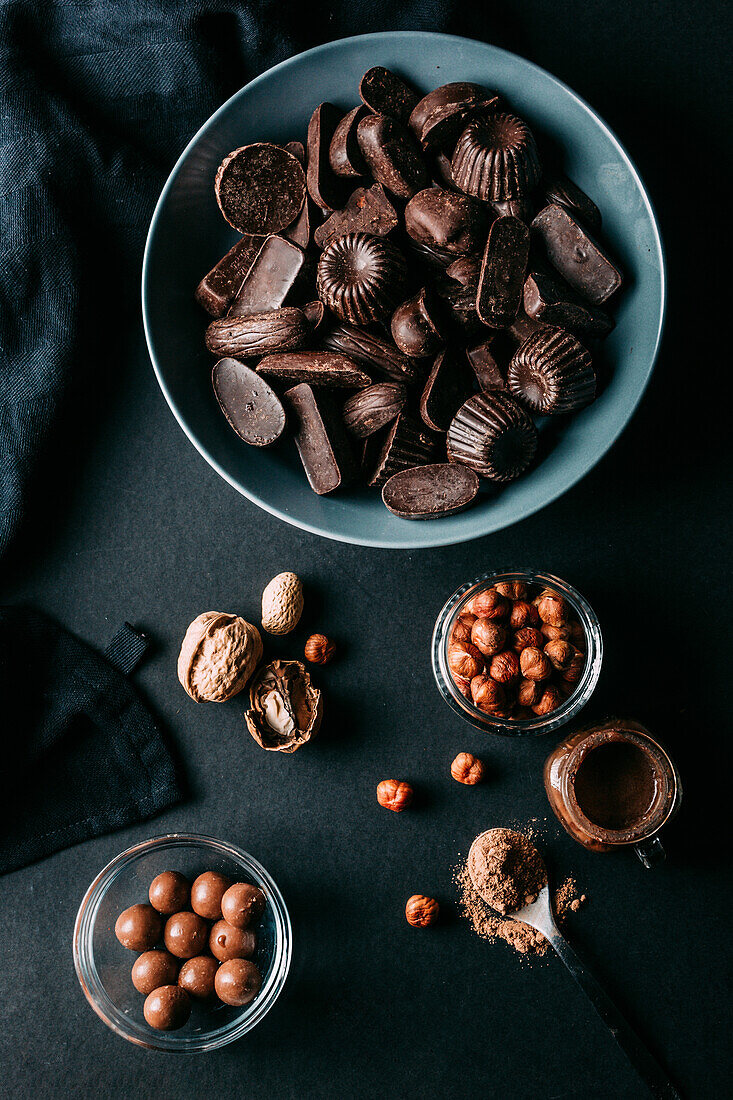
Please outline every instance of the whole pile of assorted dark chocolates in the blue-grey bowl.
[{"label": "whole pile of assorted dark chocolates in the blue-grey bowl", "polygon": [[255,447],[291,421],[316,493],[361,472],[397,516],[450,515],[480,477],[532,465],[534,417],[594,399],[586,343],[613,328],[621,275],[595,205],[545,174],[499,95],[420,98],[379,66],[359,91],[346,116],[316,108],[307,148],[259,142],[219,167],[242,237],[196,293],[214,389]]}]

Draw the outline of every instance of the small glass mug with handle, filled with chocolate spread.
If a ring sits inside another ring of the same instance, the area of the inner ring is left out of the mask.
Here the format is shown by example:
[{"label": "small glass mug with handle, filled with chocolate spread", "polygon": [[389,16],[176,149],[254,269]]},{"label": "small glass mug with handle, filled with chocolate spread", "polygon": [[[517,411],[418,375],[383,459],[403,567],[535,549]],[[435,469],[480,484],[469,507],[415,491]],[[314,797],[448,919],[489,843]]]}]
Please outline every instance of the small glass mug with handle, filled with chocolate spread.
[{"label": "small glass mug with handle, filled with chocolate spread", "polygon": [[609,718],[561,741],[545,761],[550,806],[593,851],[633,845],[645,867],[665,858],[659,831],[682,785],[667,752],[638,722]]}]

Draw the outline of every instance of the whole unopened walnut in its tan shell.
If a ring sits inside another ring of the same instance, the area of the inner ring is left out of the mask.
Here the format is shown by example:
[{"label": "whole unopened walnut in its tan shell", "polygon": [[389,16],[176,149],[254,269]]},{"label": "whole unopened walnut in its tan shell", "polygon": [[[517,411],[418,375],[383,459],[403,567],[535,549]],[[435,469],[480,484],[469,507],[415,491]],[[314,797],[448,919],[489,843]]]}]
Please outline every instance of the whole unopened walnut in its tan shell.
[{"label": "whole unopened walnut in its tan shell", "polygon": [[223,703],[244,688],[262,657],[262,638],[239,615],[205,612],[186,630],[178,680],[196,703]]}]

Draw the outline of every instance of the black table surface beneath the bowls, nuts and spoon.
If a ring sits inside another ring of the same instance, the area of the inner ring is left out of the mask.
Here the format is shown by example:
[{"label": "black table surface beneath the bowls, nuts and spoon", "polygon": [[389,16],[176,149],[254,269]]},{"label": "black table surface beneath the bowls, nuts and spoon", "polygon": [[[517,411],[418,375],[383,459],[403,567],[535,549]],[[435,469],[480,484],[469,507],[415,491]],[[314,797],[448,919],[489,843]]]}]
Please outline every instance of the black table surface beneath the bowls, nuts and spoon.
[{"label": "black table surface beneath the bowls, nuts and spoon", "polygon": [[[79,398],[1,595],[35,603],[100,647],[123,619],[152,635],[136,681],[189,791],[155,821],[2,880],[0,1094],[643,1096],[558,960],[529,965],[457,914],[451,869],[473,836],[530,821],[553,873],[573,875],[588,895],[571,942],[686,1096],[727,1091],[730,385],[719,406],[714,382],[730,363],[713,352],[730,352],[724,318],[715,324],[707,305],[712,219],[730,206],[724,4],[536,0],[484,22],[469,7],[451,30],[568,81],[616,130],[650,188],[670,274],[652,385],[612,452],[544,512],[463,546],[385,552],[303,534],[238,496],[178,429],[142,333],[131,333],[128,373]],[[709,160],[696,162],[698,151]],[[679,762],[683,805],[666,834],[668,860],[652,872],[633,853],[593,855],[561,831],[541,784],[555,735],[491,738],[438,696],[428,644],[444,601],[462,581],[514,564],[570,580],[600,616],[606,656],[588,719],[635,716]],[[305,582],[306,612],[272,651],[297,656],[315,628],[339,646],[318,675],[322,732],[289,757],[254,744],[240,701],[196,706],[175,673],[195,615],[217,608],[256,622],[264,584],[287,569]],[[461,750],[485,760],[483,785],[451,780]],[[414,783],[414,810],[376,804],[387,777]],[[92,877],[133,842],[173,831],[253,853],[294,923],[281,999],[243,1041],[207,1056],[151,1054],[112,1035],[72,961]],[[414,892],[440,900],[435,930],[406,924]]]}]

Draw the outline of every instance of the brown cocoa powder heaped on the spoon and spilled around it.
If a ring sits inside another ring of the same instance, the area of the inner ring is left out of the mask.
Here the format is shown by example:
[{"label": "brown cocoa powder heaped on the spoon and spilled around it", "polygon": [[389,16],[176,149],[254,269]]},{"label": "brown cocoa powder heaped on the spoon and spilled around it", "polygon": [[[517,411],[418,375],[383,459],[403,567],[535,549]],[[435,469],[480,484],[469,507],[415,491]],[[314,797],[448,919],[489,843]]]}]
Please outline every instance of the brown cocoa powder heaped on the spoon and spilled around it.
[{"label": "brown cocoa powder heaped on the spoon and spilled around it", "polygon": [[[477,838],[472,848],[472,870],[482,891],[492,899],[489,905],[471,881],[469,859],[455,873],[460,909],[473,931],[483,939],[503,939],[521,955],[545,955],[548,943],[540,932],[505,914],[528,904],[547,881],[545,866],[537,849],[521,833],[489,829]],[[553,894],[555,919],[560,925],[569,913],[586,902],[578,893],[573,879],[566,879]]]}]

